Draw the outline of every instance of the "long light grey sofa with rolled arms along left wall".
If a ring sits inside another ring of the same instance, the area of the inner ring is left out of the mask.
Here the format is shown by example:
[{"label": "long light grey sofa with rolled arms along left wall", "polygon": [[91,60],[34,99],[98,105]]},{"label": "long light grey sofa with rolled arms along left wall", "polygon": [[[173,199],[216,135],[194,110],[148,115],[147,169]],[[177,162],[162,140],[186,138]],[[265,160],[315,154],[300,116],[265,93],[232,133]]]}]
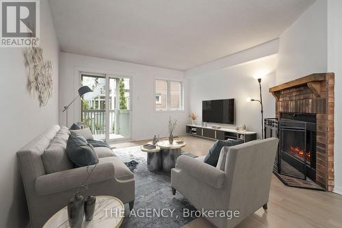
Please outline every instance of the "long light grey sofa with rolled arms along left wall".
[{"label": "long light grey sofa with rolled arms along left wall", "polygon": [[[81,182],[86,179],[87,167],[71,168],[46,174],[42,153],[52,140],[62,137],[62,129],[54,125],[18,151],[18,162],[25,187],[31,227],[42,227],[58,210],[65,207]],[[64,132],[68,131],[64,127]],[[64,134],[64,141],[66,136]],[[61,141],[61,140],[60,140]],[[66,143],[66,142],[65,142]],[[133,173],[111,149],[96,147],[99,162],[90,177],[90,185],[83,197],[110,195],[133,207],[135,181]]]}]

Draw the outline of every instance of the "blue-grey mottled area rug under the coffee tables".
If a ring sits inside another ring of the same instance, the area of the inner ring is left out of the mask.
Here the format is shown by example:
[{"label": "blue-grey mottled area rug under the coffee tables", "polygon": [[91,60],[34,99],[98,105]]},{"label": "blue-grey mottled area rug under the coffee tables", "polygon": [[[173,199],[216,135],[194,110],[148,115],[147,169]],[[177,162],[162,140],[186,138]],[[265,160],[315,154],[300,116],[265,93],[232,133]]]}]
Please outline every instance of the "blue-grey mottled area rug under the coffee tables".
[{"label": "blue-grey mottled area rug under the coffee tables", "polygon": [[[191,212],[196,209],[179,192],[176,196],[172,195],[170,174],[147,169],[147,155],[140,147],[113,151],[135,175],[134,210],[130,212],[128,205],[125,205],[125,218],[120,227],[177,228],[195,219],[194,216],[183,216],[183,210]],[[196,157],[184,151],[182,154]]]}]

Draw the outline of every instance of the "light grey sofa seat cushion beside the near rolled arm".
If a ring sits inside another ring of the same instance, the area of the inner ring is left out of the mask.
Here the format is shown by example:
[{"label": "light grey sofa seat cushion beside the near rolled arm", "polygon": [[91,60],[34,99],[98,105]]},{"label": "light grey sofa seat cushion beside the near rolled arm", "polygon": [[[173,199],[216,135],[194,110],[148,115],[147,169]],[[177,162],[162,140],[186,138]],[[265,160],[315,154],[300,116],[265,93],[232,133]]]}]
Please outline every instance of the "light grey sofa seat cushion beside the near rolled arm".
[{"label": "light grey sofa seat cushion beside the near rolled arm", "polygon": [[119,157],[102,157],[98,160],[98,164],[104,163],[114,164],[114,177],[118,180],[124,181],[128,179],[133,179],[134,174],[129,170],[129,168],[120,160]]}]

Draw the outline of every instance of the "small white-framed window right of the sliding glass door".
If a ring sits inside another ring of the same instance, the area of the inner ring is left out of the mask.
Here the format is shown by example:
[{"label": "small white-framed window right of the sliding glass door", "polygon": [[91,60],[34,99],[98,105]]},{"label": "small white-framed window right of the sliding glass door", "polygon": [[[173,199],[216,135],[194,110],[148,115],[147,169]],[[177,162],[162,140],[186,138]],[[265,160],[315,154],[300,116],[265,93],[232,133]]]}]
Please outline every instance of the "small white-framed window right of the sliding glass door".
[{"label": "small white-framed window right of the sliding glass door", "polygon": [[155,110],[183,110],[181,81],[155,80]]}]

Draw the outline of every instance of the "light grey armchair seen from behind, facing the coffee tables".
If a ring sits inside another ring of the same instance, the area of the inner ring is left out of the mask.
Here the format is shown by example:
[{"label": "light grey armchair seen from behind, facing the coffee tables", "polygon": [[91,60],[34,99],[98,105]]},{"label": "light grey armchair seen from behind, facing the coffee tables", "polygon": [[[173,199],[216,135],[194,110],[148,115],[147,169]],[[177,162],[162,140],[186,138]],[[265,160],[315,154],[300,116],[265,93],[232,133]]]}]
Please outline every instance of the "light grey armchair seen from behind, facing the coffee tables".
[{"label": "light grey armchair seen from behind, facing the coffee tables", "polygon": [[181,155],[171,171],[172,193],[179,191],[200,211],[239,210],[238,218],[207,216],[216,227],[235,227],[260,207],[267,210],[277,147],[276,138],[224,147],[216,167]]}]

